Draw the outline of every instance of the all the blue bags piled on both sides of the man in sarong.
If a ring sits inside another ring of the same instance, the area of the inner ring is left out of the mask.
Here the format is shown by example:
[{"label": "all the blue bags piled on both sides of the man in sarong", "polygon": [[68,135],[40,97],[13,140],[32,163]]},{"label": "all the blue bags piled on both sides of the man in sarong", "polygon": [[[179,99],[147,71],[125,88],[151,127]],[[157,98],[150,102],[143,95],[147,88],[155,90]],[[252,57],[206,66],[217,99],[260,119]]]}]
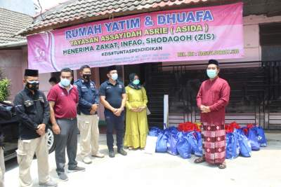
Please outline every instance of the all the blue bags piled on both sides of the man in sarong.
[{"label": "all the blue bags piled on both sides of the man in sarong", "polygon": [[[149,135],[157,137],[157,153],[181,155],[181,158],[191,158],[191,155],[202,156],[201,132],[180,132],[176,127],[160,130],[150,129]],[[239,155],[251,157],[251,151],[259,151],[267,146],[266,135],[262,127],[241,127],[226,133],[226,158],[234,159]]]}]

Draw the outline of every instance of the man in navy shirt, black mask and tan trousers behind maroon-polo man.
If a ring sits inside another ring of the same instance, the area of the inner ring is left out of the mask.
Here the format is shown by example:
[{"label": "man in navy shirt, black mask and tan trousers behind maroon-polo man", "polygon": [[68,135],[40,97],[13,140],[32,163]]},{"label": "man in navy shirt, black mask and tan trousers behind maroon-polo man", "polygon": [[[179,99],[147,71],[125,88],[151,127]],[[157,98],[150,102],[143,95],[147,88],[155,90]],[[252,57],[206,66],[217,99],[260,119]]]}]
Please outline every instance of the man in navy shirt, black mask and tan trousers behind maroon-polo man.
[{"label": "man in navy shirt, black mask and tan trousers behind maroon-polo man", "polygon": [[83,162],[90,164],[90,153],[94,157],[103,158],[105,155],[98,151],[98,90],[93,81],[91,81],[91,68],[84,65],[80,68],[80,75],[74,85],[77,85],[79,92],[78,104],[78,127],[80,130],[81,157]]}]

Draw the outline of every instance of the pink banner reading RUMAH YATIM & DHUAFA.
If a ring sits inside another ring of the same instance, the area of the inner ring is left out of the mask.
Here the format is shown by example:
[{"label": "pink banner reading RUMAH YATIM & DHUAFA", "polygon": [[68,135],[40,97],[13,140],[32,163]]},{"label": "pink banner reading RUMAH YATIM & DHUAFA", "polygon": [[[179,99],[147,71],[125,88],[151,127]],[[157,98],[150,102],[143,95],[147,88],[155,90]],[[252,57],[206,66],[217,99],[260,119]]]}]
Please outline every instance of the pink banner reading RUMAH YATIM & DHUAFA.
[{"label": "pink banner reading RUMAH YATIM & DHUAFA", "polygon": [[242,3],[126,16],[27,36],[40,73],[81,65],[243,57]]}]

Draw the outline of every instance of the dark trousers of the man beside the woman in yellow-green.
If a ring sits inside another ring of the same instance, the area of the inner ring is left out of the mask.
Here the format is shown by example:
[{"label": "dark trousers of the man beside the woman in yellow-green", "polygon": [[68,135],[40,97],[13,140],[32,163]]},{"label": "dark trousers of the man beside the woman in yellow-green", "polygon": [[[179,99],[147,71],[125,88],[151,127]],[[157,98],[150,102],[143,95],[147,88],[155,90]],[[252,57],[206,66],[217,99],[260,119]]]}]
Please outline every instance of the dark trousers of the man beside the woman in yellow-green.
[{"label": "dark trousers of the man beside the woman in yellow-green", "polygon": [[115,116],[111,111],[105,111],[105,122],[107,124],[106,141],[109,151],[113,151],[113,130],[116,131],[117,148],[123,148],[124,139],[124,112],[121,116]]}]

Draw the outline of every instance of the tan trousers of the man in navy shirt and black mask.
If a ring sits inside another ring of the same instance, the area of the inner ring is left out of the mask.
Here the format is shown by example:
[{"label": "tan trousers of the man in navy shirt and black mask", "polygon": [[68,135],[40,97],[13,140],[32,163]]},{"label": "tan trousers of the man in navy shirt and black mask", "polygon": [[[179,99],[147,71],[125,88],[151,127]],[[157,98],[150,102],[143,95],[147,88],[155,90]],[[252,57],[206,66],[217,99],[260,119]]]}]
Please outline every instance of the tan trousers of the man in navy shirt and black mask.
[{"label": "tan trousers of the man in navy shirt and black mask", "polygon": [[90,153],[98,153],[98,115],[78,115],[78,128],[80,130],[81,157],[85,158]]}]

